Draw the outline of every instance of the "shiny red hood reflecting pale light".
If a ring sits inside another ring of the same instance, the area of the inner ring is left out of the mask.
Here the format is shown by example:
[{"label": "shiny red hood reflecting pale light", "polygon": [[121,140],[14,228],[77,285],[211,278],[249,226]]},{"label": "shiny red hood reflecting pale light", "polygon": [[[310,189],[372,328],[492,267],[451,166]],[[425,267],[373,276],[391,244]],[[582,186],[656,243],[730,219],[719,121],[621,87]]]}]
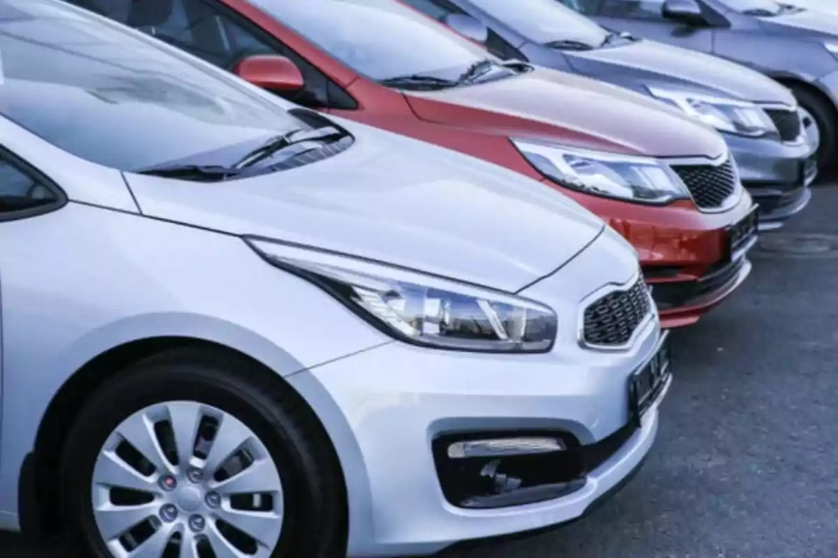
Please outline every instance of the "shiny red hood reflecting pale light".
[{"label": "shiny red hood reflecting pale light", "polygon": [[647,156],[709,156],[722,136],[678,110],[611,84],[551,69],[431,92],[406,92],[428,122]]}]

